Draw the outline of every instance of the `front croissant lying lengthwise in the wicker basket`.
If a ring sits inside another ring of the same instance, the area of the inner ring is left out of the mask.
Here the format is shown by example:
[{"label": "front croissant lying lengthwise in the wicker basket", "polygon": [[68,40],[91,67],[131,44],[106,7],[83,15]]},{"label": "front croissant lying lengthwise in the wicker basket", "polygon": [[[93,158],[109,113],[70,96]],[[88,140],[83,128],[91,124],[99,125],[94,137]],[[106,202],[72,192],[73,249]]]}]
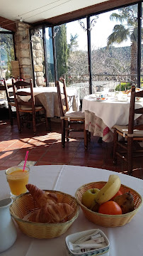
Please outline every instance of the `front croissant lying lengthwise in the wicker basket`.
[{"label": "front croissant lying lengthwise in the wicker basket", "polygon": [[60,223],[73,211],[74,208],[68,203],[53,203],[52,205],[47,203],[42,208],[35,210],[29,220],[37,223]]}]

